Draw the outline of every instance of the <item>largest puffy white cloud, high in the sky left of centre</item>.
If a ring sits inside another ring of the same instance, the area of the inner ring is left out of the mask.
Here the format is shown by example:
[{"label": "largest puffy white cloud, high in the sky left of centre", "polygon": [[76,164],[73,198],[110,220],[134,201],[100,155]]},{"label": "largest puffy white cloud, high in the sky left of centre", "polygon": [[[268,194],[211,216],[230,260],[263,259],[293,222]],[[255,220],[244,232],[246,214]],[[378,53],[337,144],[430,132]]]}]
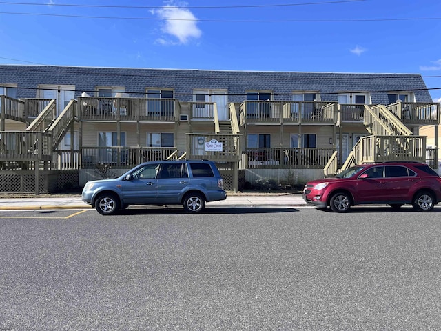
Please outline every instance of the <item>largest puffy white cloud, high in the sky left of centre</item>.
[{"label": "largest puffy white cloud, high in the sky left of centre", "polygon": [[165,19],[161,31],[172,37],[176,37],[178,42],[171,39],[161,37],[156,42],[162,45],[176,45],[185,44],[190,39],[198,39],[201,37],[201,30],[197,26],[197,19],[194,14],[183,7],[187,6],[187,3],[174,3],[173,1],[167,2],[163,8],[158,10],[151,10],[151,13]]}]

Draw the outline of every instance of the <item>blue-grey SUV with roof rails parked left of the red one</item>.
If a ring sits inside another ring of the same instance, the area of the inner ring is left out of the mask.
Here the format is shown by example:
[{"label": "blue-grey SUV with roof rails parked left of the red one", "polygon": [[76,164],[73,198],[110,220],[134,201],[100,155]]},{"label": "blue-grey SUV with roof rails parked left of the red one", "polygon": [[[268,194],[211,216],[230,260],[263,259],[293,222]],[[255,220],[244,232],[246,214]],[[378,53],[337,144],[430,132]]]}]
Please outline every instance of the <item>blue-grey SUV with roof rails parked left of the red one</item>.
[{"label": "blue-grey SUV with roof rails parked left of the red one", "polygon": [[227,199],[218,168],[207,160],[145,162],[116,179],[85,183],[81,198],[103,215],[129,205],[183,205],[198,214],[205,202]]}]

